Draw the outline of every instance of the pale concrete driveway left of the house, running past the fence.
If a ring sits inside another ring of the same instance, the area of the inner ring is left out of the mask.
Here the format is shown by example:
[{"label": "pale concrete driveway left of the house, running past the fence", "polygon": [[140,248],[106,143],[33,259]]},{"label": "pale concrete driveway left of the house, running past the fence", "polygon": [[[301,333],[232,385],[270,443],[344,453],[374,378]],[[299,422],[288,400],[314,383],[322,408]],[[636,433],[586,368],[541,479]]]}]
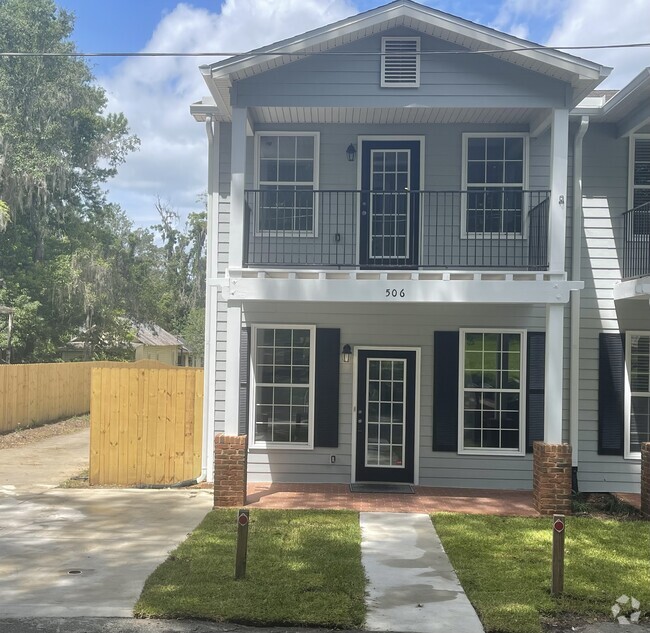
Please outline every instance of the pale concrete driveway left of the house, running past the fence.
[{"label": "pale concrete driveway left of the house, running past the fence", "polygon": [[212,507],[204,490],[53,488],[87,464],[75,435],[0,451],[0,618],[132,616]]}]

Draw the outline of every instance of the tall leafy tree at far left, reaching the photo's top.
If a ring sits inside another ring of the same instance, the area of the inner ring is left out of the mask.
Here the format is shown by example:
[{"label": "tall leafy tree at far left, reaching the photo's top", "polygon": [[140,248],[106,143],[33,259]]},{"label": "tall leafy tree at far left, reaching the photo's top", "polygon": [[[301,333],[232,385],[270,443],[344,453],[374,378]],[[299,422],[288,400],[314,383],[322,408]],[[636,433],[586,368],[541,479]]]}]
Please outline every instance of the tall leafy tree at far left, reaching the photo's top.
[{"label": "tall leafy tree at far left, reaching the photo's top", "polygon": [[0,0],[0,279],[19,361],[55,358],[80,328],[110,328],[125,307],[112,266],[125,261],[131,226],[102,187],[139,141],[105,111],[85,61],[2,56],[74,52],[73,25],[52,0]]}]

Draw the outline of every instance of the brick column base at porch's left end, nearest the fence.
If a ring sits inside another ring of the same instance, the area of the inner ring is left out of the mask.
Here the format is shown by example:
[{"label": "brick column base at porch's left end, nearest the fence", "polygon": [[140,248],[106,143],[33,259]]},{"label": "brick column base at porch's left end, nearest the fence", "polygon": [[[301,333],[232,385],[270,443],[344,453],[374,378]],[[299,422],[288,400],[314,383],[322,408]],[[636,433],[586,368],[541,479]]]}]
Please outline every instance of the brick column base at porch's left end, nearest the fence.
[{"label": "brick column base at porch's left end, nearest the fence", "polygon": [[214,438],[214,507],[246,504],[247,435]]}]

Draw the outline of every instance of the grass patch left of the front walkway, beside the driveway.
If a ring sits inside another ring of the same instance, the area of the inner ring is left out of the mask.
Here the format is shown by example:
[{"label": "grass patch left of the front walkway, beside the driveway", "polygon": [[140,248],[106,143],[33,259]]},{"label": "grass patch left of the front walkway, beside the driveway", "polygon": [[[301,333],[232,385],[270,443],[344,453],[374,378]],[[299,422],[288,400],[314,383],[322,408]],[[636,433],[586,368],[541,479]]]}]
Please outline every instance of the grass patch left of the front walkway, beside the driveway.
[{"label": "grass patch left of the front walkway, beside the driveway", "polygon": [[139,617],[358,628],[365,577],[356,512],[251,510],[234,580],[236,512],[214,510],[149,577]]}]

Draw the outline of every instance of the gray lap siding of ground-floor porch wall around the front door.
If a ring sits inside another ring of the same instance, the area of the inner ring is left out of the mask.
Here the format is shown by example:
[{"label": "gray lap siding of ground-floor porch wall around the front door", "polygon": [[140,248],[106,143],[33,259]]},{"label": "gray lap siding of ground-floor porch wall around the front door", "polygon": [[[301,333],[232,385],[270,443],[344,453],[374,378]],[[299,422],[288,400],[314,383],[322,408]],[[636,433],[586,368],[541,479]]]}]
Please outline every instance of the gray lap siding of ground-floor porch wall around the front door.
[{"label": "gray lap siding of ground-floor porch wall around the front door", "polygon": [[[459,327],[544,329],[540,307],[481,305],[358,305],[276,303],[244,305],[246,323],[315,324],[341,329],[341,342],[421,349],[420,484],[425,486],[530,489],[532,463],[524,457],[480,457],[432,450],[433,333]],[[249,481],[328,482],[351,480],[353,365],[341,363],[338,448],[257,450],[249,455]],[[329,456],[336,455],[330,464]]]}]

